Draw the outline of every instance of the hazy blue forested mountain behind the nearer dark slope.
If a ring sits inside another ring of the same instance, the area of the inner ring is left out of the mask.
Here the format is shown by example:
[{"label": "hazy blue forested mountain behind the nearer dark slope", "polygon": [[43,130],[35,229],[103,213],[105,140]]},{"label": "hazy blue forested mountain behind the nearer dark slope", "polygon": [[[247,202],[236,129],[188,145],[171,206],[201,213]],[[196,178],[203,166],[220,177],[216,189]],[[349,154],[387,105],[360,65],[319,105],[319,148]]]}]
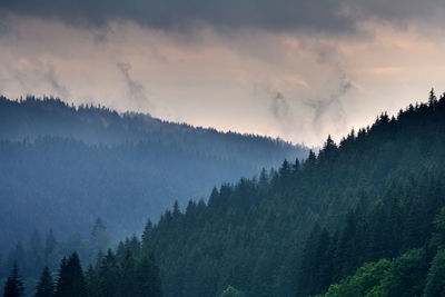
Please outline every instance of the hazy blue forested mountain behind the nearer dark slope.
[{"label": "hazy blue forested mountain behind the nearer dark slope", "polygon": [[279,139],[118,113],[60,99],[0,97],[0,250],[34,229],[113,238],[141,230],[215,185],[251,177],[308,149]]}]

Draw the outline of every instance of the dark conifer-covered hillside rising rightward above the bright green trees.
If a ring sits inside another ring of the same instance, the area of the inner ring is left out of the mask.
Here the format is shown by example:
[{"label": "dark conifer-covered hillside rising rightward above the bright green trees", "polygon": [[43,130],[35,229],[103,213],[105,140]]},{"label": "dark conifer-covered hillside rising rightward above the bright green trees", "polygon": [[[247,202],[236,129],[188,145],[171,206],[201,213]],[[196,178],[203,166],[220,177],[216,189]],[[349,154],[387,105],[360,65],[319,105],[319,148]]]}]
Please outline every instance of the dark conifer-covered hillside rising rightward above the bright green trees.
[{"label": "dark conifer-covered hillside rising rightward above the bright green trees", "polygon": [[314,295],[367,261],[422,248],[445,206],[444,161],[445,97],[432,92],[338,145],[328,138],[303,164],[174,207],[148,242],[165,295],[216,296],[228,286],[247,296]]}]

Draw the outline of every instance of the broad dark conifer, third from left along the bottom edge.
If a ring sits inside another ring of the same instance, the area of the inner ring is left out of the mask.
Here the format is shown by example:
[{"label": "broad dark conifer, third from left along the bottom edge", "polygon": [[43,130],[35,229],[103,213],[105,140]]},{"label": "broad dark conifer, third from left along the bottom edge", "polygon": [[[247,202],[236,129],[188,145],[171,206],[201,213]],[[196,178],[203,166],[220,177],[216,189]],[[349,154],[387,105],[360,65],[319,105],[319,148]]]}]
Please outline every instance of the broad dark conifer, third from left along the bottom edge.
[{"label": "broad dark conifer, third from left along the bottom edge", "polygon": [[87,296],[86,280],[77,253],[73,253],[68,259],[63,257],[60,263],[59,278],[56,286],[56,296]]}]

